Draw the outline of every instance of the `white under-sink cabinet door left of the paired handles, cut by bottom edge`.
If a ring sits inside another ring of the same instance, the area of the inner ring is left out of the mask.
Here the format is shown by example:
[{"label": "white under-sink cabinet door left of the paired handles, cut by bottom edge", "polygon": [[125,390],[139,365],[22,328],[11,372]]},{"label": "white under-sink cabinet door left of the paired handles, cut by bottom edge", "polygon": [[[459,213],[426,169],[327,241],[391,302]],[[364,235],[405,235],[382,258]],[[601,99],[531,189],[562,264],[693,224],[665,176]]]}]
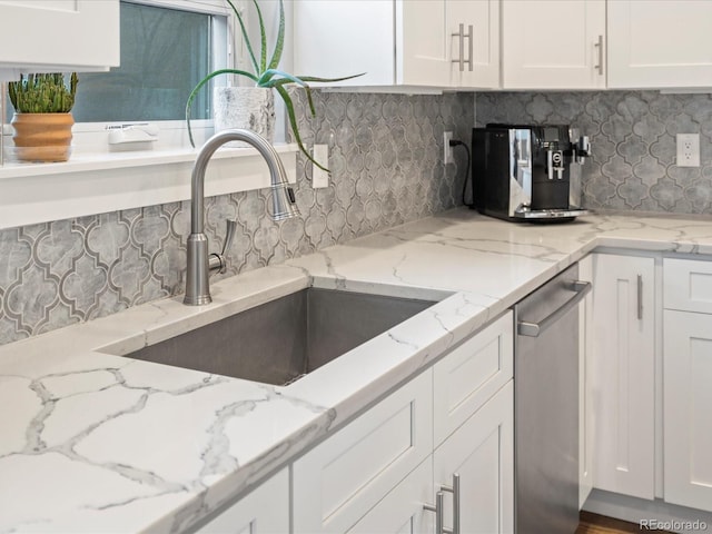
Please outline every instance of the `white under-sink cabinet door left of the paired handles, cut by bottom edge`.
[{"label": "white under-sink cabinet door left of the paired handles, cut by bottom edge", "polygon": [[423,505],[433,501],[433,458],[428,456],[354,525],[348,534],[431,534],[435,516]]}]

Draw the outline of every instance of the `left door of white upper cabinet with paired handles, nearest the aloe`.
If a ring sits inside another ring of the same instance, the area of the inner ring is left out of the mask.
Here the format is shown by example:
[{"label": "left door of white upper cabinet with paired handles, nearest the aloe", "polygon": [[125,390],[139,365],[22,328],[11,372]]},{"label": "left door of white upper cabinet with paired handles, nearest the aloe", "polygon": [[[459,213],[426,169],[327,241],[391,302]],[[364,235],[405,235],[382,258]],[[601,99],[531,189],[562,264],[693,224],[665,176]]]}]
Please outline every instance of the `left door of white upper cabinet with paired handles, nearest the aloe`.
[{"label": "left door of white upper cabinet with paired handles, nearest the aloe", "polygon": [[[406,86],[448,85],[448,0],[395,0],[396,82]],[[380,53],[385,53],[382,50]]]}]

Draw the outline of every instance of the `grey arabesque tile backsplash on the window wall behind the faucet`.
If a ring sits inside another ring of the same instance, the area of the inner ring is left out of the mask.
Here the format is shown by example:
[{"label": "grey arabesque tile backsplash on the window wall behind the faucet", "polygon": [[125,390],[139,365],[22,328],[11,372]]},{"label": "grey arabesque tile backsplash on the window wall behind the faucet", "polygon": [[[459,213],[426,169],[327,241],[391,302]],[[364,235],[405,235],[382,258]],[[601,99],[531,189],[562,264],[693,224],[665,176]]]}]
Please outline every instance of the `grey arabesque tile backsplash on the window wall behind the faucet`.
[{"label": "grey arabesque tile backsplash on the window wall behind the faucet", "polygon": [[[207,199],[216,249],[237,217],[228,276],[309,254],[459,204],[464,158],[443,165],[443,131],[466,138],[472,95],[315,92],[304,140],[329,145],[329,187],[299,157],[301,217],[274,222],[265,191]],[[300,106],[304,100],[298,96]],[[307,168],[309,170],[307,171]],[[189,202],[0,230],[0,344],[110,315],[184,290]]]}]

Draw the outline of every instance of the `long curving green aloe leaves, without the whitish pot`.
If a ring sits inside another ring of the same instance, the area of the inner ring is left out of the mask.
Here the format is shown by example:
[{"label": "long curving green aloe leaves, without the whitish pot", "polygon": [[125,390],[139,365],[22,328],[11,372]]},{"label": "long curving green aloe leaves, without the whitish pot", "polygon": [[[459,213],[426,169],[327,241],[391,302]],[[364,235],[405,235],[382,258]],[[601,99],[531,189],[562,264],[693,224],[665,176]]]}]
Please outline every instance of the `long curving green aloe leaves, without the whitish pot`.
[{"label": "long curving green aloe leaves, without the whitish pot", "polygon": [[291,131],[294,134],[294,138],[299,146],[299,150],[312,161],[314,165],[319,167],[320,169],[328,172],[328,169],[324,167],[322,164],[316,161],[312,155],[305,148],[301,136],[299,135],[299,128],[297,126],[297,118],[294,111],[294,102],[291,101],[291,97],[285,86],[289,83],[295,83],[305,89],[307,95],[307,102],[309,105],[309,111],[312,112],[312,117],[316,116],[316,110],[314,109],[314,101],[312,99],[312,89],[309,88],[309,82],[332,82],[332,81],[343,81],[348,80],[350,78],[356,78],[360,75],[346,76],[343,78],[318,78],[315,76],[294,76],[281,70],[278,70],[279,61],[281,60],[281,52],[284,50],[285,43],[285,10],[283,0],[279,0],[279,30],[277,32],[277,40],[275,42],[275,49],[273,51],[271,58],[269,62],[267,61],[267,34],[265,32],[265,21],[263,20],[263,13],[257,4],[257,0],[253,0],[253,6],[255,6],[255,10],[257,11],[257,20],[259,21],[259,33],[260,33],[260,56],[259,61],[255,56],[254,48],[249,41],[249,37],[247,34],[247,29],[245,27],[245,21],[240,16],[239,11],[235,7],[231,0],[226,0],[230,6],[230,9],[235,13],[237,18],[240,30],[243,32],[243,38],[245,39],[245,44],[247,51],[249,53],[249,59],[253,65],[254,72],[249,72],[241,69],[220,69],[214,72],[210,72],[202,80],[198,82],[198,85],[192,89],[190,96],[188,97],[188,102],[186,103],[186,122],[188,123],[188,137],[190,138],[190,145],[196,146],[192,139],[192,131],[190,129],[190,107],[192,105],[194,99],[196,98],[198,91],[212,78],[221,75],[237,75],[245,76],[255,82],[256,87],[264,88],[273,88],[277,91],[277,93],[281,97],[285,102],[285,108],[287,109],[287,116],[289,118],[289,126],[291,127]]}]

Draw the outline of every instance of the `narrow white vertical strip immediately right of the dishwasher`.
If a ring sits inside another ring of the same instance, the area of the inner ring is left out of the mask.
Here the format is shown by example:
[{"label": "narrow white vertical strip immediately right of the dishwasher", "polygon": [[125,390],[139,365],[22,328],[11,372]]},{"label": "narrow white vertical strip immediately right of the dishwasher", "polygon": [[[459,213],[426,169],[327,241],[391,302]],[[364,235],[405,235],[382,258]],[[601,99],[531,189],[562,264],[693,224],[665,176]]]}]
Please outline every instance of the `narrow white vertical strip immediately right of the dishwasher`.
[{"label": "narrow white vertical strip immediately right of the dishwasher", "polygon": [[[593,283],[593,256],[578,261],[578,279]],[[594,412],[591,368],[593,365],[593,295],[578,305],[578,507],[593,488]]]}]

